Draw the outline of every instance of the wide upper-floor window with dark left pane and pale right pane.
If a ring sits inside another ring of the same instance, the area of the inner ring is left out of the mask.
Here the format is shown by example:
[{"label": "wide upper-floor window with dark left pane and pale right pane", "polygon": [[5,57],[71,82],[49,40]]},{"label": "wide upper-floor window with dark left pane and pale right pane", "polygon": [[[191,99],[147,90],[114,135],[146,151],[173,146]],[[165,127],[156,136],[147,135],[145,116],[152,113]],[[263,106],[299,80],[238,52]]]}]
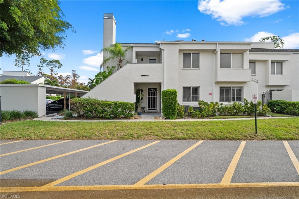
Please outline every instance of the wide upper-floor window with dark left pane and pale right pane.
[{"label": "wide upper-floor window with dark left pane and pale right pane", "polygon": [[220,68],[243,68],[243,54],[221,53]]}]

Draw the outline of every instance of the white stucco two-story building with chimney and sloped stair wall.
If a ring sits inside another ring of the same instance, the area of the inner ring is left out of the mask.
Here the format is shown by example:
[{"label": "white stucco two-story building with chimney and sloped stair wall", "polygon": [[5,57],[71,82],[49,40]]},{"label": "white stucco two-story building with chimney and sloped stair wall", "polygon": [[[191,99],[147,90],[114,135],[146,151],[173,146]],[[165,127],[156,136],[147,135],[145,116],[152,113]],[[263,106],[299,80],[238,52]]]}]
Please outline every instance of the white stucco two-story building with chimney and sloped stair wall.
[{"label": "white stucco two-story building with chimney and sloped stair wall", "polygon": [[[115,43],[116,21],[112,13],[103,20],[103,46],[109,46]],[[274,49],[272,42],[196,40],[122,45],[132,46],[129,63],[84,97],[135,102],[135,90],[143,89],[146,112],[161,111],[164,89],[176,89],[179,103],[192,106],[199,100],[251,101],[254,93],[262,101],[266,91],[275,99],[299,101],[299,49]]]}]

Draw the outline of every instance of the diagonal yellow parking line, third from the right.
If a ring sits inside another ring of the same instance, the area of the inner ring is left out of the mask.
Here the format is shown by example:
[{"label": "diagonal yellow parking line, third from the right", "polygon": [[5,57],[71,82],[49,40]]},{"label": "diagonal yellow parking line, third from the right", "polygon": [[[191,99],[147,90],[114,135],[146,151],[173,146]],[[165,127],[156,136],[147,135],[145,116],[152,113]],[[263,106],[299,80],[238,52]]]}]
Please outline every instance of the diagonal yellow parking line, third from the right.
[{"label": "diagonal yellow parking line, third from the right", "polygon": [[159,173],[161,173],[162,171],[164,171],[167,167],[169,167],[170,165],[172,165],[174,162],[176,162],[178,159],[180,159],[181,157],[183,157],[184,155],[186,155],[189,151],[191,151],[192,149],[194,149],[195,147],[197,147],[198,145],[200,145],[203,142],[203,140],[196,142],[196,144],[192,145],[191,147],[187,148],[185,151],[181,152],[179,155],[177,155],[176,157],[174,157],[173,159],[169,160],[168,162],[166,162],[164,165],[162,165],[161,167],[157,168],[155,171],[153,171],[152,173],[148,174],[146,177],[142,178],[141,180],[139,180],[137,183],[135,183],[133,186],[141,186],[144,185],[145,183],[147,183],[149,180],[151,180],[152,178],[154,178],[156,175],[158,175]]}]

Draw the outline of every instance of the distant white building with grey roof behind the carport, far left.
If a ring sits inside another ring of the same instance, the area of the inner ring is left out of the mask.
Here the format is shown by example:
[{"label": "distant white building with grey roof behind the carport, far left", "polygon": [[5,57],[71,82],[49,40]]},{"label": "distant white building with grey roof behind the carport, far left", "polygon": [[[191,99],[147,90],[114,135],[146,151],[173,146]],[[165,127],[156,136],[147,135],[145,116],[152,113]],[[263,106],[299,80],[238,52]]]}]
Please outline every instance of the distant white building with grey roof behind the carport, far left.
[{"label": "distant white building with grey roof behind the carport, far left", "polygon": [[33,76],[26,71],[3,71],[3,74],[0,74],[0,81],[7,79],[24,80],[29,83],[44,83],[43,76]]}]

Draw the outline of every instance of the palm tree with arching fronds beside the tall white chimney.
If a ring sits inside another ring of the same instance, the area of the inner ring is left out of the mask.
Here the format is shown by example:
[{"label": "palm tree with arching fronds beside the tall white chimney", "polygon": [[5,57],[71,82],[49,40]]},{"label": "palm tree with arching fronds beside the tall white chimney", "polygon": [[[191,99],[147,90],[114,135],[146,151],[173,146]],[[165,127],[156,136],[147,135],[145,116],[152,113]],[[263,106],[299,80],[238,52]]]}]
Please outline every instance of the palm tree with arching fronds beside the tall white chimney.
[{"label": "palm tree with arching fronds beside the tall white chimney", "polygon": [[104,57],[101,67],[103,67],[109,61],[115,60],[114,62],[117,62],[117,70],[120,69],[122,67],[123,61],[129,63],[129,61],[125,60],[124,57],[126,57],[126,54],[130,50],[132,50],[132,46],[128,46],[125,49],[123,49],[123,47],[117,42],[113,46],[104,47],[101,52],[106,52],[110,54],[110,57]]}]

